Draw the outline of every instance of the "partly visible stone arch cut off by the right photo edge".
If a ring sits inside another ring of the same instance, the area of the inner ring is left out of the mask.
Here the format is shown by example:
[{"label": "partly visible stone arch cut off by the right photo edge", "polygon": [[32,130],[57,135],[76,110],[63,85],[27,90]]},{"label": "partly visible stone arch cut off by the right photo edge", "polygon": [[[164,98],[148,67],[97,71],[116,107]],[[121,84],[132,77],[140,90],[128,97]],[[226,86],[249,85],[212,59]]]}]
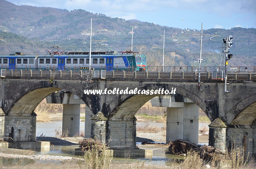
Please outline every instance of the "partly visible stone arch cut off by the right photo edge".
[{"label": "partly visible stone arch cut off by the right photo edge", "polygon": [[225,120],[229,125],[251,126],[256,124],[256,93],[238,102],[232,107]]}]

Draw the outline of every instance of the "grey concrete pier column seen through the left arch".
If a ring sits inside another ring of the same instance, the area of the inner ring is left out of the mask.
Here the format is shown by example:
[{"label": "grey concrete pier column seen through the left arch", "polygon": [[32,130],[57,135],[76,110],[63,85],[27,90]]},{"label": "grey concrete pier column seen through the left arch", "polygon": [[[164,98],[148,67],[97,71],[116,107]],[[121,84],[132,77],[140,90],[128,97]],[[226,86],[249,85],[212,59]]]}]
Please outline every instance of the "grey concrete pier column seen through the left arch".
[{"label": "grey concrete pier column seen through the left arch", "polygon": [[80,134],[80,104],[63,104],[62,135]]}]

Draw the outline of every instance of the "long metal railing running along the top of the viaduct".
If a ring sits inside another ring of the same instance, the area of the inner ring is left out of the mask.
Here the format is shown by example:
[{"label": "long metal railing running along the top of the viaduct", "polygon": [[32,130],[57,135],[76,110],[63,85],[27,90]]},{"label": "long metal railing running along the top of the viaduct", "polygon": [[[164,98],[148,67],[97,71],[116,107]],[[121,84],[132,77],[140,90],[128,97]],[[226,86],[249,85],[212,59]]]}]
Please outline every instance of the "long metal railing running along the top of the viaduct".
[{"label": "long metal railing running along the top of the viaduct", "polygon": [[[198,71],[106,71],[106,70],[1,70],[5,76],[20,77],[82,77],[91,74],[94,78],[161,78],[198,79]],[[1,73],[2,74],[2,73]],[[97,76],[96,76],[97,75]],[[201,79],[224,79],[223,71],[201,71]],[[256,80],[256,72],[228,71],[228,79]]]}]

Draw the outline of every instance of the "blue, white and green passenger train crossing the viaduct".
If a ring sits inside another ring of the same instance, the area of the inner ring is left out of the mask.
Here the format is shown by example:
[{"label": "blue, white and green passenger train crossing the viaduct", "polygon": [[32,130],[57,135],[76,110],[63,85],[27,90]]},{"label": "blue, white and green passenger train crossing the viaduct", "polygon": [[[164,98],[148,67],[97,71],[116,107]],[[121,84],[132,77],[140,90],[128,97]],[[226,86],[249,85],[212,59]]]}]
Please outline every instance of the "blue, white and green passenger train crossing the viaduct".
[{"label": "blue, white and green passenger train crossing the viaduct", "polygon": [[[48,55],[0,55],[0,69],[6,70],[89,70],[89,52],[50,52]],[[147,58],[132,51],[118,54],[91,52],[91,70],[146,71]]]}]

